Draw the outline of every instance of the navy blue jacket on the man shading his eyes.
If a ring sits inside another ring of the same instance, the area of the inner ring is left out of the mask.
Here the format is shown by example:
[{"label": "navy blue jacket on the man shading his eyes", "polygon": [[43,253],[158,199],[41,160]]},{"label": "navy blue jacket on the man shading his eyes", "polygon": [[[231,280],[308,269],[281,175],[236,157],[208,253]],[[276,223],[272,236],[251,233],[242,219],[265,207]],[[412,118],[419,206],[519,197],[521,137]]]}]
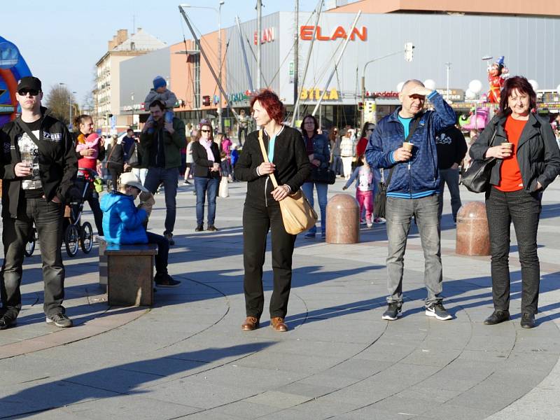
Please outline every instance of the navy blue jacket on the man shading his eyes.
[{"label": "navy blue jacket on the man shading his eyes", "polygon": [[[401,107],[379,121],[367,141],[365,159],[372,168],[395,168],[387,188],[388,197],[424,197],[440,188],[435,137],[444,127],[454,125],[456,116],[451,106],[437,92],[429,94],[428,99],[433,104],[434,111],[418,113],[410,122],[412,130],[414,120],[419,119],[416,131],[409,139],[414,144],[414,150],[408,162],[393,161],[393,152],[405,141],[405,130],[398,120]],[[385,172],[385,179],[387,178],[388,171]]]}]

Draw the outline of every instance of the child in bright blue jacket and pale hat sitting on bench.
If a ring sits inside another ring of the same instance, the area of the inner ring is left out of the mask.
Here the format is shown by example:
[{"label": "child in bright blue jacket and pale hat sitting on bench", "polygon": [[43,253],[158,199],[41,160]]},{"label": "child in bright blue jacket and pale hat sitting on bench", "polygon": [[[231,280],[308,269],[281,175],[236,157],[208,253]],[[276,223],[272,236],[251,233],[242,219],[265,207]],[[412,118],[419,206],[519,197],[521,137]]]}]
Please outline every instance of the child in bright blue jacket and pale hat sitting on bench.
[{"label": "child in bright blue jacket and pale hat sitting on bench", "polygon": [[[153,195],[142,186],[132,172],[125,172],[119,178],[119,191],[104,195],[100,201],[103,211],[103,232],[107,242],[112,244],[157,244],[155,255],[154,283],[158,287],[176,287],[181,281],[167,274],[169,241],[144,228],[155,203]],[[140,195],[140,204],[134,200]]]}]

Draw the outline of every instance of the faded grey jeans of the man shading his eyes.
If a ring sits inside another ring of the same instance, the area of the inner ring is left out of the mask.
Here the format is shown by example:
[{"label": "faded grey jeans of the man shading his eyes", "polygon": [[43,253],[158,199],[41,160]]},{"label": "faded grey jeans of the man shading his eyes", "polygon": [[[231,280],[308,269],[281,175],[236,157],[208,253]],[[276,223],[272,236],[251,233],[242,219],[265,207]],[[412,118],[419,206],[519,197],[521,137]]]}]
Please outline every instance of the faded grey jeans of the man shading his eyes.
[{"label": "faded grey jeans of the man shading his eyes", "polygon": [[418,225],[424,253],[424,284],[428,290],[426,304],[441,302],[442,258],[437,207],[437,195],[412,199],[387,197],[387,302],[402,303],[402,272],[412,216]]}]

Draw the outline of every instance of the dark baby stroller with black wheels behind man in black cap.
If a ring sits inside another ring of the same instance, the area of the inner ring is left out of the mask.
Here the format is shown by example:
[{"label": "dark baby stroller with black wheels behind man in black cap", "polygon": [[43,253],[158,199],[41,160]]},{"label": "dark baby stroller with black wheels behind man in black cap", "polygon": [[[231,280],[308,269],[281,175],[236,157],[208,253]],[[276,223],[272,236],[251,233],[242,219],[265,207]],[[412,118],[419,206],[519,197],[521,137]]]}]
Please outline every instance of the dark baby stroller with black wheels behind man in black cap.
[{"label": "dark baby stroller with black wheels behind man in black cap", "polygon": [[93,188],[94,172],[91,169],[78,168],[76,187],[80,190],[80,197],[72,198],[64,213],[64,245],[69,257],[75,257],[78,247],[84,253],[90,253],[93,247],[93,229],[90,222],[81,223],[83,203],[88,188]]}]

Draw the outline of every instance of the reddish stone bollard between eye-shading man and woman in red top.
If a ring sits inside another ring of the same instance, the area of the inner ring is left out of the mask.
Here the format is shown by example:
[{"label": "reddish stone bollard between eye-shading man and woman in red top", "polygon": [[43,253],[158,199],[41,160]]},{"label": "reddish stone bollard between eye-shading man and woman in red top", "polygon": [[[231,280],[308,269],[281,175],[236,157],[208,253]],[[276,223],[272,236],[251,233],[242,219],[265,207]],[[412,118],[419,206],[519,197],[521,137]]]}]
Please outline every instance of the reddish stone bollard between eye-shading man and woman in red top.
[{"label": "reddish stone bollard between eye-shading man and woman in red top", "polygon": [[455,252],[458,255],[490,255],[490,233],[483,202],[467,202],[459,209]]}]

